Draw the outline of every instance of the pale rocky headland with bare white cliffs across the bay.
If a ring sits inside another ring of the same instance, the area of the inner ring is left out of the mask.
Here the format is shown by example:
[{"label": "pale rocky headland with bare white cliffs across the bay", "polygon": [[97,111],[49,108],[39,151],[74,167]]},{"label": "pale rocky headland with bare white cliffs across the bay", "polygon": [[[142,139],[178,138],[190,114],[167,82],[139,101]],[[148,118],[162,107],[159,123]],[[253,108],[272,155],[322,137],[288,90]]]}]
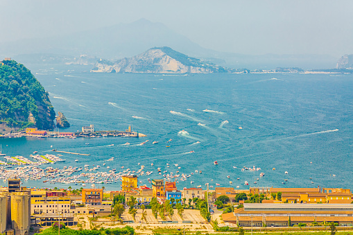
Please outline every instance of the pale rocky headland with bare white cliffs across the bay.
[{"label": "pale rocky headland with bare white cliffs across the bay", "polygon": [[221,73],[229,69],[174,51],[169,47],[155,47],[132,58],[117,62],[100,60],[92,72],[107,73]]}]

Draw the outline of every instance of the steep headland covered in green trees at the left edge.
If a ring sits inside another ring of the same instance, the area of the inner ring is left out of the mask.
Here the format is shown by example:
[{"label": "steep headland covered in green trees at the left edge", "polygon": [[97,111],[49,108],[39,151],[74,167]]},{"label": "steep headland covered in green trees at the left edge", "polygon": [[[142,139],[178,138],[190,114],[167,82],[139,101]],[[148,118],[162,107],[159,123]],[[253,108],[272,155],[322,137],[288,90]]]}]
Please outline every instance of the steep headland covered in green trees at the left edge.
[{"label": "steep headland covered in green trees at the left edge", "polygon": [[0,121],[15,129],[51,130],[54,119],[49,95],[31,71],[14,60],[0,62]]}]

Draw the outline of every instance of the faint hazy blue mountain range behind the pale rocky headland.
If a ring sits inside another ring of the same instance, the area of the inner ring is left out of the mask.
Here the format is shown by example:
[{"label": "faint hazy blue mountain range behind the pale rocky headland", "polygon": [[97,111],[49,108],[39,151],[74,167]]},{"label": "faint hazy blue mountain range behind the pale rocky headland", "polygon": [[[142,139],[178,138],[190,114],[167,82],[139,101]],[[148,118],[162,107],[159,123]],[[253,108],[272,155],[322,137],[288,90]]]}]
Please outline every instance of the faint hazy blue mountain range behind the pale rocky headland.
[{"label": "faint hazy blue mountain range behind the pale rocky headland", "polygon": [[0,44],[0,56],[21,61],[16,55],[45,53],[64,55],[62,60],[66,60],[85,54],[118,60],[137,55],[155,46],[169,46],[192,57],[203,58],[232,68],[301,67],[312,69],[332,68],[336,64],[336,58],[330,55],[243,55],[205,49],[184,35],[175,33],[164,24],[147,19],[57,37],[2,43]]}]

